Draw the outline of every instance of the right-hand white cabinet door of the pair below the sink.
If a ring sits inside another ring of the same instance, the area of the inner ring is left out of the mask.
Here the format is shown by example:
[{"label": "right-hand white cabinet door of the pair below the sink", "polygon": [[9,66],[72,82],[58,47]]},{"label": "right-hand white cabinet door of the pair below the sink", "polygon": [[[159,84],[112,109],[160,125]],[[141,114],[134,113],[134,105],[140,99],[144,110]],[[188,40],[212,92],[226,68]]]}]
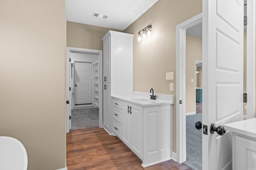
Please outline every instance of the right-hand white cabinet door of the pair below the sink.
[{"label": "right-hand white cabinet door of the pair below the sink", "polygon": [[142,158],[142,107],[130,105],[131,148]]}]

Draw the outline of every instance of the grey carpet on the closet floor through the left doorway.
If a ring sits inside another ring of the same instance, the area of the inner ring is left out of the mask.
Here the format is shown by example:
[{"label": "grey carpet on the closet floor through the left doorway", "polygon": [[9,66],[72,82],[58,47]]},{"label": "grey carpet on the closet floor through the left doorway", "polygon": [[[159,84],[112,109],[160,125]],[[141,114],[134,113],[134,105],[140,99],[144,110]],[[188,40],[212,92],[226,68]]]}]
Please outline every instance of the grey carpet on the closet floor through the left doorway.
[{"label": "grey carpet on the closet floor through the left doorway", "polygon": [[99,109],[72,109],[71,130],[99,127]]}]

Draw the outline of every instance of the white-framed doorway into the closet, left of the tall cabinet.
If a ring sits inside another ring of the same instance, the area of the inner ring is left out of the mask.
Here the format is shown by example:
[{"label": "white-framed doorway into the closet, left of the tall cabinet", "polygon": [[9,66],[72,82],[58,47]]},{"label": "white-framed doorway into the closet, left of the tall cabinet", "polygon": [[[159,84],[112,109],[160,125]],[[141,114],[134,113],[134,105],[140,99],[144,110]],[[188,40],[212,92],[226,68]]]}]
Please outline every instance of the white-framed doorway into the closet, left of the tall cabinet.
[{"label": "white-framed doorway into the closet, left of the tall cabinet", "polygon": [[67,47],[66,99],[66,133],[74,129],[72,118],[79,129],[88,127],[82,118],[102,127],[102,50]]}]

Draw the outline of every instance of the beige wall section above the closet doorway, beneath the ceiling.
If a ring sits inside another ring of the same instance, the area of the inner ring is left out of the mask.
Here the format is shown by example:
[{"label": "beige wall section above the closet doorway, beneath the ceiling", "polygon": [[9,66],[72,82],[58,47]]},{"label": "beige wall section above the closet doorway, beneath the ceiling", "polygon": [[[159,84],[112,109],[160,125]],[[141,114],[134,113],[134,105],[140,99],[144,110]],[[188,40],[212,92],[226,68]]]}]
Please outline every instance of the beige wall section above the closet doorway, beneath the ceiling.
[{"label": "beige wall section above the closet doorway, beneath the ceiling", "polygon": [[103,50],[102,37],[109,30],[118,31],[67,21],[67,47]]}]

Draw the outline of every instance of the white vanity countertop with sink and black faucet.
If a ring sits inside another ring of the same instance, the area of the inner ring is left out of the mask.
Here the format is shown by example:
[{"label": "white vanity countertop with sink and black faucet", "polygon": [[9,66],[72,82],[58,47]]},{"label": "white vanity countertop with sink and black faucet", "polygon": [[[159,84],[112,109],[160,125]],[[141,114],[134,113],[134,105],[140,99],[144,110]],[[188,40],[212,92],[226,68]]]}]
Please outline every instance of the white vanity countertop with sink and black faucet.
[{"label": "white vanity countertop with sink and black faucet", "polygon": [[156,106],[156,105],[163,105],[163,104],[173,104],[173,101],[167,101],[167,100],[152,100],[150,99],[150,96],[148,95],[148,98],[142,97],[142,96],[112,96],[114,99],[123,100],[126,102],[130,102],[132,104],[136,104],[139,106]]}]

